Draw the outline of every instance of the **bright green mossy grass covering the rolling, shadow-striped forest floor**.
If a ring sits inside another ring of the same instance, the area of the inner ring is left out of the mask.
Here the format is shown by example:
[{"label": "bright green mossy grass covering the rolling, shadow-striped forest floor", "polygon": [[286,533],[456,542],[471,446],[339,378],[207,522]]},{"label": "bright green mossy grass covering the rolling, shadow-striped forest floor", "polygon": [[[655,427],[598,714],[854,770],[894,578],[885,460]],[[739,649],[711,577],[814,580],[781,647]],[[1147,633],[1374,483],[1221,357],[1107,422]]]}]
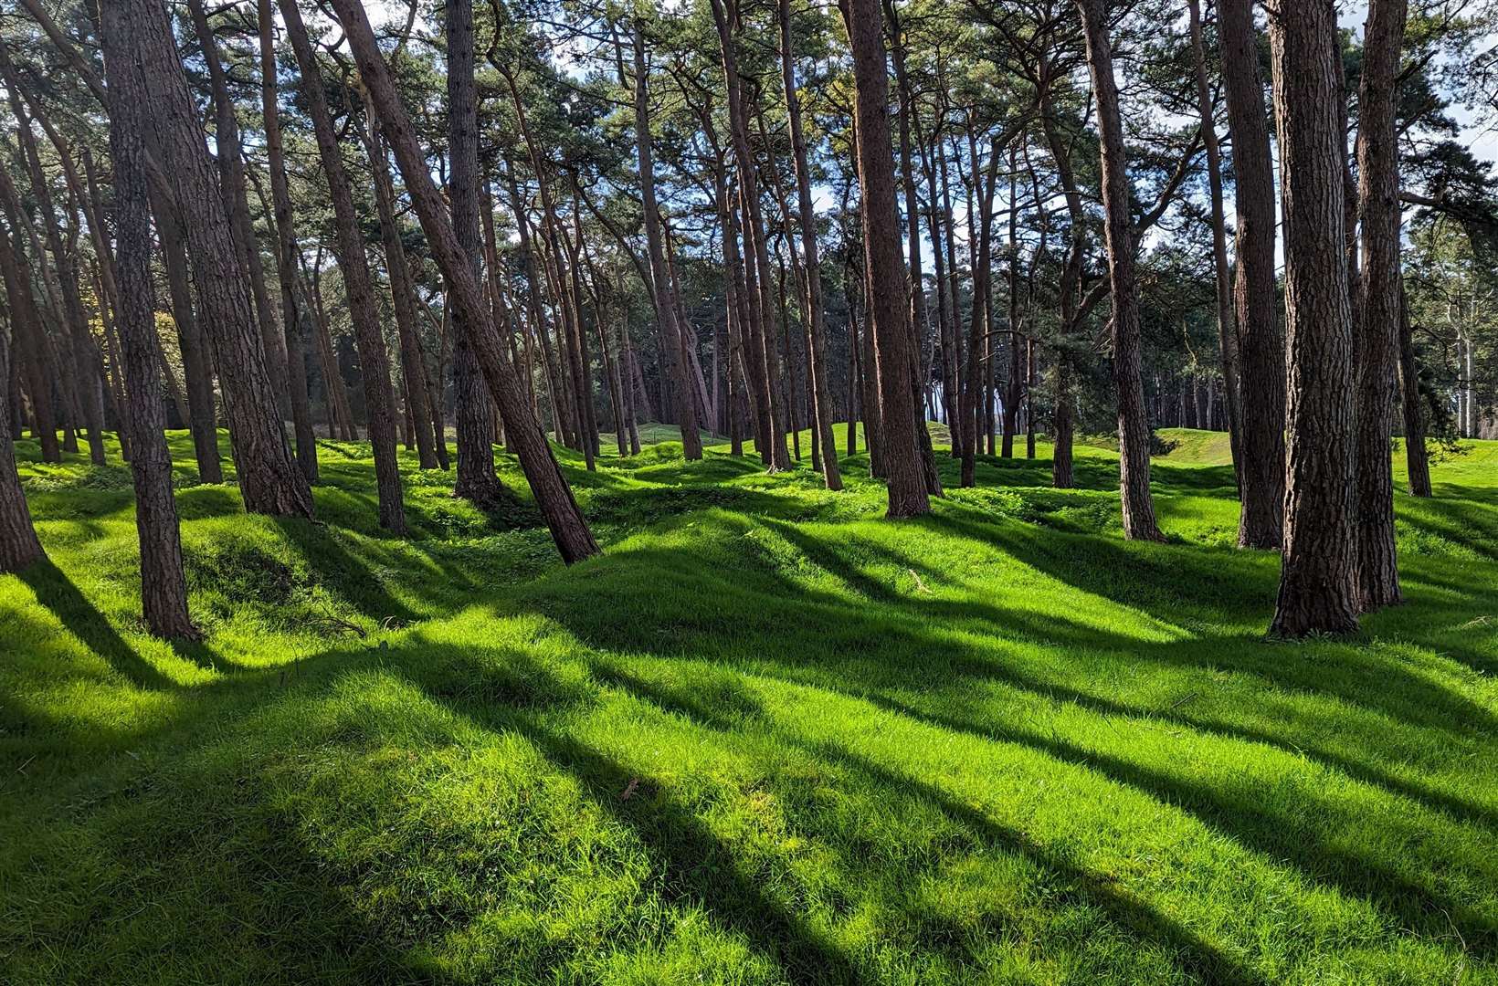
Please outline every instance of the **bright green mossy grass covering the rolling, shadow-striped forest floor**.
[{"label": "bright green mossy grass covering the rolling, shadow-striped forest floor", "polygon": [[0,982],[1498,983],[1498,443],[1401,492],[1407,606],[1287,645],[1176,437],[1164,545],[1092,447],[899,524],[863,456],[568,455],[563,569],[524,495],[407,462],[392,540],[324,443],[322,522],[271,521],[174,434],[190,646],[129,473],[22,441]]}]

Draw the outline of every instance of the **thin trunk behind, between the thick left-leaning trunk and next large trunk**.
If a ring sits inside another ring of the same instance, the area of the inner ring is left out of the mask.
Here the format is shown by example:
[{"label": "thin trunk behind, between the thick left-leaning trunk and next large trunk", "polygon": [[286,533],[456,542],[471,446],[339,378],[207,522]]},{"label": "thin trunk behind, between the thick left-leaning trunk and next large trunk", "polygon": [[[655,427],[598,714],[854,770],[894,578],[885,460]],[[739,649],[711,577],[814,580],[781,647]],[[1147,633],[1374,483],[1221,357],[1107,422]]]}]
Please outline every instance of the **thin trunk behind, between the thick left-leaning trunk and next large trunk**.
[{"label": "thin trunk behind, between the thick left-leaning trunk and next large trunk", "polygon": [[276,275],[282,292],[282,331],[286,352],[286,389],[291,396],[297,462],[307,482],[318,482],[318,435],[312,431],[312,401],[307,396],[307,317],[297,292],[297,229],[286,184],[286,154],[282,150],[280,112],[276,105],[276,37],[271,0],[258,0],[261,40],[261,117],[265,121],[265,153],[271,171],[271,202],[276,212]]}]

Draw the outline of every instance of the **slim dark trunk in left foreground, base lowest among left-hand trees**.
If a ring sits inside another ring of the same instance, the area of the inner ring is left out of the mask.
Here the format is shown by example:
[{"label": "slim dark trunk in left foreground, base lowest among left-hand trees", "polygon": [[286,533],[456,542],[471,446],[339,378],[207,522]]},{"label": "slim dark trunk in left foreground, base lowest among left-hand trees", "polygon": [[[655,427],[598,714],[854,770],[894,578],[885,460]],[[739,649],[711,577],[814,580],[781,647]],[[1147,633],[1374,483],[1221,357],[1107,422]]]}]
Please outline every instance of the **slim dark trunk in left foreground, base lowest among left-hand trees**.
[{"label": "slim dark trunk in left foreground, base lowest among left-hand trees", "polygon": [[141,537],[141,604],[151,633],[196,637],[187,615],[181,530],[172,497],[162,385],[157,376],[156,299],[151,284],[151,205],[145,181],[147,81],[135,33],[135,3],[103,4],[105,69],[109,78],[109,154],[114,163],[120,311],[135,479],[135,527]]}]

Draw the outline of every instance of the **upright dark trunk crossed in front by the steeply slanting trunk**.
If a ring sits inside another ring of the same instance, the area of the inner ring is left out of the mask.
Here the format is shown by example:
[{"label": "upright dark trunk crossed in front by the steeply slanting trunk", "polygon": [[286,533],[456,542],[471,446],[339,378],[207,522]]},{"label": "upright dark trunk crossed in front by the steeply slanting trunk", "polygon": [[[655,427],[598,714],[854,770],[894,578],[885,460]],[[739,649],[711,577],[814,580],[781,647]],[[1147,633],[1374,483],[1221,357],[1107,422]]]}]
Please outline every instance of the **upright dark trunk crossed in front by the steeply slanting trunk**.
[{"label": "upright dark trunk crossed in front by the steeply slanting trunk", "polygon": [[[448,34],[448,200],[457,245],[475,283],[479,277],[478,93],[473,82],[473,3],[446,0]],[[367,84],[367,81],[366,81]],[[389,133],[386,132],[386,136]],[[394,144],[394,141],[391,141]],[[404,174],[404,169],[401,169]],[[406,175],[406,186],[410,177]],[[448,275],[451,281],[451,275]],[[493,503],[503,486],[494,474],[494,398],[484,389],[473,323],[482,314],[452,311],[452,391],[457,417],[458,474],[452,494],[478,504]],[[499,326],[493,326],[497,332]],[[508,425],[508,417],[506,417]]]}]

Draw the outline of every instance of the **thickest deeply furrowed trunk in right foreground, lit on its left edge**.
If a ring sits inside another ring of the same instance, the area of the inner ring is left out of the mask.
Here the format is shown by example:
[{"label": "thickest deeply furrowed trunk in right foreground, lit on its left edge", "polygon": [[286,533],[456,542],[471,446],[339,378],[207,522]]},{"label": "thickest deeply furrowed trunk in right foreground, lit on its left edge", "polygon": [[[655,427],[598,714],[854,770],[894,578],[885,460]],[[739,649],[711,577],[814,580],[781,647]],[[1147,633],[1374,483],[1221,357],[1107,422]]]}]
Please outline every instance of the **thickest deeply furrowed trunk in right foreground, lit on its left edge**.
[{"label": "thickest deeply furrowed trunk in right foreground, lit on its left edge", "polygon": [[1353,322],[1344,226],[1345,144],[1332,0],[1269,21],[1285,217],[1288,482],[1270,633],[1357,628]]}]

